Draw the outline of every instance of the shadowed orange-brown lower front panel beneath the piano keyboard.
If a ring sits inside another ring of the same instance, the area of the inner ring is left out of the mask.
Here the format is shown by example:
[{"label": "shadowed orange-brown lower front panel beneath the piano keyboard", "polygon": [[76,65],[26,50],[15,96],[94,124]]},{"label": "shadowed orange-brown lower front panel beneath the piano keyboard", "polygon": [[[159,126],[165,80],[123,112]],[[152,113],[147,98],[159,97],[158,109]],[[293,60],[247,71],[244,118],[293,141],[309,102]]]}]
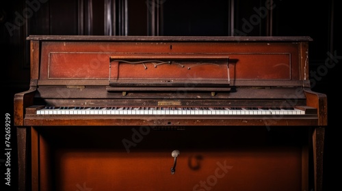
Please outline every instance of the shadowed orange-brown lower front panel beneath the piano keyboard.
[{"label": "shadowed orange-brown lower front panel beneath the piano keyboard", "polygon": [[308,190],[306,128],[35,130],[40,190]]}]

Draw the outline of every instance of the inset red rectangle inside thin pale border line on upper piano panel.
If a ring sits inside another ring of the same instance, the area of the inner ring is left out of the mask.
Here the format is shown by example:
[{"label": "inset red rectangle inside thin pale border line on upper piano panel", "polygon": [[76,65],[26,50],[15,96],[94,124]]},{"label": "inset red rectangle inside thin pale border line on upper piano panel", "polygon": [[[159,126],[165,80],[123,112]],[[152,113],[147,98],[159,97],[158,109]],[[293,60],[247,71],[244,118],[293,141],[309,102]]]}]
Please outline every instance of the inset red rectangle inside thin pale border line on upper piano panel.
[{"label": "inset red rectangle inside thin pale border line on upper piano panel", "polygon": [[[244,53],[243,53],[244,54]],[[103,59],[98,59],[101,55]],[[107,79],[109,77],[109,57],[121,56],[119,53],[50,53],[49,79]],[[172,55],[177,58],[177,55]],[[192,55],[193,56],[193,55]],[[203,56],[203,55],[202,55]],[[205,55],[213,57],[217,55]],[[130,64],[114,61],[111,64],[111,78],[114,79],[225,79],[228,80],[227,66],[231,69],[229,77],[245,80],[291,80],[291,55],[283,54],[251,54],[235,55],[226,53],[221,57],[231,58],[229,61],[187,61],[180,62],[175,59],[171,64],[159,65],[155,59],[143,65],[142,63]],[[125,55],[129,58],[129,55]],[[153,57],[153,55],[150,55]],[[163,55],[158,55],[163,57]],[[170,55],[168,55],[170,57]],[[140,61],[144,61],[143,59]],[[233,61],[232,63],[230,63]],[[137,67],[136,65],[140,65]],[[282,71],[282,72],[278,72]]]}]

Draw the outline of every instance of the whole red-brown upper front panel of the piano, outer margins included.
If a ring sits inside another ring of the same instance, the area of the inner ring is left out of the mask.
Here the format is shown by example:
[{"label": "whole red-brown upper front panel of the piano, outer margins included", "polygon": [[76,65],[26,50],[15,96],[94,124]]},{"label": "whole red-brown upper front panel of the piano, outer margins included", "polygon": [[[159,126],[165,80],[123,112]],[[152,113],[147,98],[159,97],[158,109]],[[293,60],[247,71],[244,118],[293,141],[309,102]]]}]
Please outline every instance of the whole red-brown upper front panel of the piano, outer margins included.
[{"label": "whole red-brown upper front panel of the piano, outer margins included", "polygon": [[[302,44],[282,43],[212,43],[212,42],[42,42],[41,80],[108,79],[109,57],[229,57],[229,78],[234,80],[300,80]],[[127,49],[129,48],[129,49]],[[144,60],[142,60],[144,61]],[[171,60],[172,61],[172,60]],[[184,65],[183,63],[181,63]],[[184,67],[165,64],[155,67],[120,63],[113,65],[113,78],[120,79],[227,79],[227,65],[185,63]],[[189,68],[192,68],[191,70]],[[203,72],[205,71],[205,72]]]}]

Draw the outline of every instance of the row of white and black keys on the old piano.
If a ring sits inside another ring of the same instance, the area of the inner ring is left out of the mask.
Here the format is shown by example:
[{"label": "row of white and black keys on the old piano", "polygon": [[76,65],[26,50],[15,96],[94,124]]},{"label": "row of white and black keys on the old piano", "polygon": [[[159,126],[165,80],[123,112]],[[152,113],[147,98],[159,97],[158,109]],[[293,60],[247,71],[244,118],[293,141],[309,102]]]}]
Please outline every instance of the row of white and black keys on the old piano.
[{"label": "row of white and black keys on the old piano", "polygon": [[46,106],[37,115],[304,115],[298,108]]}]

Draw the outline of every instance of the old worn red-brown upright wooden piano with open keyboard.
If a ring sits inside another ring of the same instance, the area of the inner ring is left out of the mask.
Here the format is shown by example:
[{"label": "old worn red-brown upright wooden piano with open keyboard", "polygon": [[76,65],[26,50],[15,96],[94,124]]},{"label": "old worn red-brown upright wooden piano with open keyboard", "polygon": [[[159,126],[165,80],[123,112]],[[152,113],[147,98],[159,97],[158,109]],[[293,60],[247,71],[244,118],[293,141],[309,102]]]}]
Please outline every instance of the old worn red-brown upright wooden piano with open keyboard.
[{"label": "old worn red-brown upright wooden piano with open keyboard", "polygon": [[321,190],[310,37],[30,35],[19,190]]}]

